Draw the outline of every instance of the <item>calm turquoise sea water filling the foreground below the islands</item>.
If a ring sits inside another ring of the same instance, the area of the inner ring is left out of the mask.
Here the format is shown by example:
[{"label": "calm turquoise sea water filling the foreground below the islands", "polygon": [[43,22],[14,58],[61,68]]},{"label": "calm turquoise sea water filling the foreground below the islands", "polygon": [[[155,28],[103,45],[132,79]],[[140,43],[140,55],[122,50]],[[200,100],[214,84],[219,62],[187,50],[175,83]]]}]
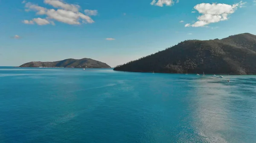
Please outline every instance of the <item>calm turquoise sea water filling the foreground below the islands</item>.
[{"label": "calm turquoise sea water filling the foreground below the islands", "polygon": [[255,143],[256,76],[0,67],[1,143]]}]

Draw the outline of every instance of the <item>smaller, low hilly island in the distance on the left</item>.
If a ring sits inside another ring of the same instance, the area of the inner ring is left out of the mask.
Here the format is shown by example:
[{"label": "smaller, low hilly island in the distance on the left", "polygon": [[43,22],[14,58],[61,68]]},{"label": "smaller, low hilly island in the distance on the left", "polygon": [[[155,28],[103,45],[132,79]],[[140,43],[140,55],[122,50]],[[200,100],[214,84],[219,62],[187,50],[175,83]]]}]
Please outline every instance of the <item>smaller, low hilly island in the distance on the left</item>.
[{"label": "smaller, low hilly island in the distance on the left", "polygon": [[108,64],[94,59],[64,59],[56,62],[28,62],[20,67],[74,67],[74,68],[111,68]]}]

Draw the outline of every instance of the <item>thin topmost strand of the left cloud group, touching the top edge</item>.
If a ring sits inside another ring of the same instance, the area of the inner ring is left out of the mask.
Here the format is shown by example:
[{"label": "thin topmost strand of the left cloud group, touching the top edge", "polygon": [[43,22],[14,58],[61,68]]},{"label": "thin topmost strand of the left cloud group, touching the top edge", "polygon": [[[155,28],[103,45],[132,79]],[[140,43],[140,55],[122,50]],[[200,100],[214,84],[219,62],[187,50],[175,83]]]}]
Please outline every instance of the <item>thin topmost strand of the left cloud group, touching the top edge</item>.
[{"label": "thin topmost strand of the left cloud group, touching the top edge", "polygon": [[47,3],[55,8],[62,8],[64,10],[73,12],[78,12],[80,8],[79,5],[64,3],[63,0],[44,0],[44,3]]}]

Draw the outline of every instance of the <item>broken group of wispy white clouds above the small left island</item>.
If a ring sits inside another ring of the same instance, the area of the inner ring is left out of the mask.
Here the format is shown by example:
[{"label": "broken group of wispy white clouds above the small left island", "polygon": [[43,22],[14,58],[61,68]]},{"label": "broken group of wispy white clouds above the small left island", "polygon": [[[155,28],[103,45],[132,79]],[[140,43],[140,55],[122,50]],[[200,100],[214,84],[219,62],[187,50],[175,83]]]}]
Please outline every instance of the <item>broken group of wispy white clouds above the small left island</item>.
[{"label": "broken group of wispy white clouds above the small left island", "polygon": [[[26,1],[23,1],[22,3],[26,3]],[[55,25],[53,20],[56,20],[69,25],[80,25],[81,23],[93,23],[94,21],[89,16],[95,16],[98,14],[97,10],[88,9],[84,10],[85,14],[82,14],[79,12],[81,10],[79,5],[69,4],[64,2],[64,0],[44,0],[44,3],[57,9],[48,9],[28,2],[25,4],[25,11],[35,11],[36,15],[46,15],[46,17],[23,20],[23,23],[34,24],[35,22],[38,25]]]}]

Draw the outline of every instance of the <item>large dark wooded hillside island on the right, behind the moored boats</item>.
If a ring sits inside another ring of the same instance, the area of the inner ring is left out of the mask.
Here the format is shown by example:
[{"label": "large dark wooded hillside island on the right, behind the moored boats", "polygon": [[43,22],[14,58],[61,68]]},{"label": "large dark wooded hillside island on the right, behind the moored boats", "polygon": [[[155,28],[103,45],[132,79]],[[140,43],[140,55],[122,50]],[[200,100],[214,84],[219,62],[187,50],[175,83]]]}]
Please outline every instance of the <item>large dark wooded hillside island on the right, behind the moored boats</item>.
[{"label": "large dark wooded hillside island on the right, behind the moored boats", "polygon": [[155,73],[256,74],[256,35],[186,40],[113,70]]}]

